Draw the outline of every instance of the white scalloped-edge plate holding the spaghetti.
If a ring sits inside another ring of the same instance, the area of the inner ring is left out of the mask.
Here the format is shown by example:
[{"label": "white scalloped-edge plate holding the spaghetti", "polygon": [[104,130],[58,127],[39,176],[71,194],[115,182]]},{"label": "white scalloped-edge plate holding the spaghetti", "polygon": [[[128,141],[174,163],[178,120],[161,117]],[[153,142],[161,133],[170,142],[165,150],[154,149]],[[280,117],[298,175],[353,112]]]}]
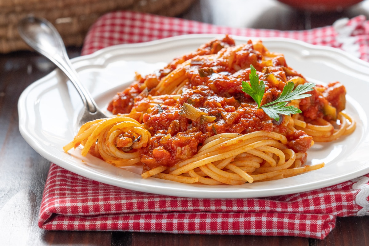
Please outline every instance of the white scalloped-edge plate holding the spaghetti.
[{"label": "white scalloped-edge plate holding the spaghetti", "polygon": [[[92,55],[73,59],[82,82],[100,108],[134,78],[161,68],[176,56],[194,51],[219,35],[186,35],[154,42],[117,45]],[[237,44],[248,38],[234,37]],[[255,39],[255,38],[254,38]],[[287,64],[312,82],[342,82],[347,89],[346,112],[357,121],[352,135],[331,143],[315,143],[308,150],[307,164],[325,162],[325,167],[283,180],[239,186],[182,184],[142,179],[140,167],[120,169],[100,159],[79,155],[80,149],[64,153],[73,139],[82,101],[66,78],[53,71],[32,83],[18,101],[19,128],[24,139],[40,155],[87,178],[131,190],[197,198],[245,198],[292,194],[341,183],[369,173],[368,91],[369,65],[338,49],[313,46],[281,38],[262,38],[270,51],[284,53]]]}]

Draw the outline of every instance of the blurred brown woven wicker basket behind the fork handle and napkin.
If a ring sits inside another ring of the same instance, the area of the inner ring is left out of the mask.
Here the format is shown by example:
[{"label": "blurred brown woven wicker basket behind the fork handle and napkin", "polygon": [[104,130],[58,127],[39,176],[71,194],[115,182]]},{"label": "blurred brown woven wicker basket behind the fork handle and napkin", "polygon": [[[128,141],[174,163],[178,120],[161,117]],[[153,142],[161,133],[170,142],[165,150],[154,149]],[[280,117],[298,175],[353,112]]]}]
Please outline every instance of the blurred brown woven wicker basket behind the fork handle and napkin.
[{"label": "blurred brown woven wicker basket behind the fork handle and napkin", "polygon": [[132,10],[165,16],[183,13],[194,0],[0,0],[0,53],[30,49],[17,23],[33,15],[55,25],[66,46],[80,46],[89,27],[101,15]]}]

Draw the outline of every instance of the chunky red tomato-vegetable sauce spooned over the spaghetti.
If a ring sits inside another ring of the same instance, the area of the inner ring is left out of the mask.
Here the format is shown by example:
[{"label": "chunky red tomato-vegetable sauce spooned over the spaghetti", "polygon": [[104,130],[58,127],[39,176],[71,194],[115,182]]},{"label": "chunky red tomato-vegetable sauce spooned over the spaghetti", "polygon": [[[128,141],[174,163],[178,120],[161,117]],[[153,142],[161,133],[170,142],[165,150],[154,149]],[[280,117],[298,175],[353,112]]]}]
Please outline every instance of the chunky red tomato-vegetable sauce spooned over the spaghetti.
[{"label": "chunky red tomato-vegetable sauce spooned over the spaghetti", "polygon": [[[267,51],[260,48],[263,46],[255,48],[251,41],[234,52],[231,67],[229,59],[199,56],[216,53],[223,47],[237,48],[228,36],[211,41],[196,52],[173,60],[155,74],[138,76],[137,82],[118,93],[111,101],[108,110],[113,114],[130,112],[130,116],[142,122],[151,133],[148,146],[139,149],[145,169],[173,166],[188,159],[197,152],[206,138],[224,132],[246,134],[259,130],[275,131],[285,135],[287,145],[296,152],[306,152],[310,148],[311,136],[303,131],[287,130],[284,116],[280,117],[280,122],[270,119],[241,90],[242,81],[249,81],[250,65],[257,69],[259,78],[265,83],[262,104],[276,100],[288,80],[298,77],[301,82],[305,81],[304,77],[287,66],[283,55],[266,57]],[[190,58],[191,63],[185,67],[187,82],[180,99],[156,98],[157,105],[152,107],[151,95],[156,95],[153,88],[164,76]],[[317,86],[310,93],[311,97],[300,100],[300,109],[306,121],[334,118],[326,105],[335,107],[337,112],[344,109],[345,89],[338,82],[328,84],[327,87]],[[202,117],[191,120],[184,117],[180,109],[185,103],[211,116],[213,120],[207,121]]]}]

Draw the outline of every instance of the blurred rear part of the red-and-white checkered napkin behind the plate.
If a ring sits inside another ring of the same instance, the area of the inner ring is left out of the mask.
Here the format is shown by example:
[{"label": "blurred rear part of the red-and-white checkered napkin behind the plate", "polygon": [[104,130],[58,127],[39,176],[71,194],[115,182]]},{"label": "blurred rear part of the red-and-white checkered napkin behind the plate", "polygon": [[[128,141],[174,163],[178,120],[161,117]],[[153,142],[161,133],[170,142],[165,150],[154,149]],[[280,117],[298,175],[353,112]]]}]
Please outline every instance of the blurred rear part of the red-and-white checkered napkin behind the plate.
[{"label": "blurred rear part of the red-and-white checkered napkin behind the plate", "polygon": [[245,37],[284,37],[341,48],[369,61],[369,21],[364,15],[341,19],[333,26],[303,31],[231,28],[179,18],[118,11],[103,15],[90,29],[82,55],[111,45],[147,42],[184,34],[217,33]]}]

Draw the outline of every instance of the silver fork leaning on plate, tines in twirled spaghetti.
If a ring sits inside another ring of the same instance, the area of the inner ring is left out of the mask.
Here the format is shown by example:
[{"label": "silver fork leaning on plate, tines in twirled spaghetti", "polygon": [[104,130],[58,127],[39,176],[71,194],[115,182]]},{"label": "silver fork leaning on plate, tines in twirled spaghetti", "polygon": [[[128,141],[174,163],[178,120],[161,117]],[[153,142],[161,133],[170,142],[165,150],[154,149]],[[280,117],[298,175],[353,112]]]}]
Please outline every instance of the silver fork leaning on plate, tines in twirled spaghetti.
[{"label": "silver fork leaning on plate, tines in twirled spaghetti", "polygon": [[77,119],[78,129],[87,121],[108,118],[97,107],[89,91],[80,83],[79,76],[70,63],[63,40],[49,21],[36,17],[26,17],[18,23],[18,32],[35,51],[58,66],[76,87],[84,105],[84,109]]}]

